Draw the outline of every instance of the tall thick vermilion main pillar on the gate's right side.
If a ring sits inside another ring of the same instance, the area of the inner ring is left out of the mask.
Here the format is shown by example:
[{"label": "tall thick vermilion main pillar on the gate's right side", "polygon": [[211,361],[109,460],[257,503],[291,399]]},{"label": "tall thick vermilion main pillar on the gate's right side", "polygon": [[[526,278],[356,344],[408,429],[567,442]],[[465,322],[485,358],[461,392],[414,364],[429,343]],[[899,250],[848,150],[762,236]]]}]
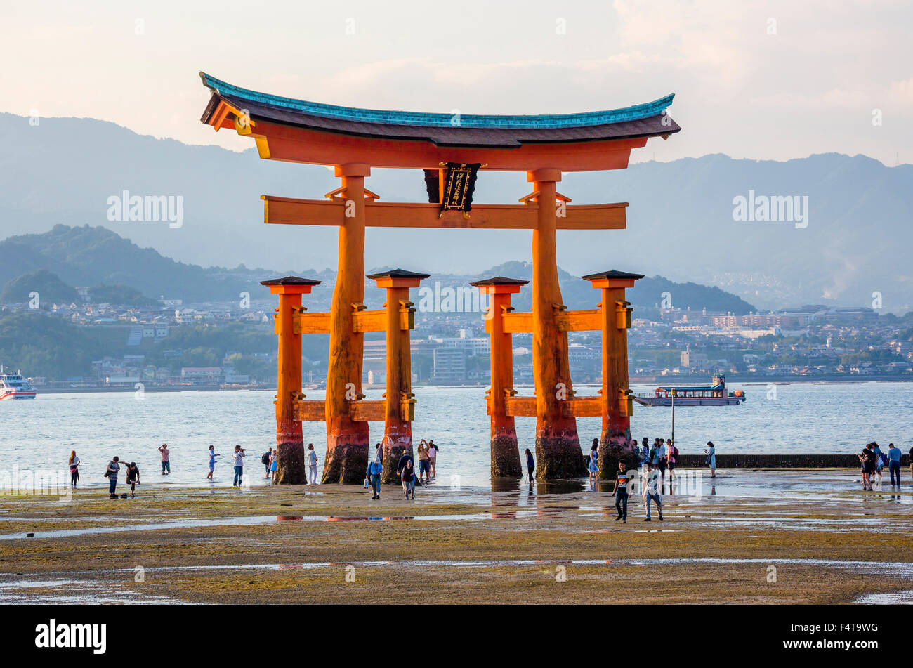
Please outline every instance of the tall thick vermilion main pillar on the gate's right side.
[{"label": "tall thick vermilion main pillar on the gate's right side", "polygon": [[583,473],[577,421],[561,412],[561,399],[573,395],[568,335],[555,315],[563,308],[555,254],[555,183],[561,170],[527,172],[539,204],[532,231],[532,374],[536,385],[536,478],[570,478]]}]

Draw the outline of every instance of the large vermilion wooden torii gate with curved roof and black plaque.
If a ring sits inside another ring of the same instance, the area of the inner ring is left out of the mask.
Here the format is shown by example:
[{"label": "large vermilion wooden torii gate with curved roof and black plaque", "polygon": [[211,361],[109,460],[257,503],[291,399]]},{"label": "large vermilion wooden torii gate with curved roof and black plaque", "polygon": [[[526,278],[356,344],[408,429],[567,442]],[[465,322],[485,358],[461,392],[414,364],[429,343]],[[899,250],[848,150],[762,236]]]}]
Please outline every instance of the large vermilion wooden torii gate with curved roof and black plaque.
[{"label": "large vermilion wooden torii gate with curved roof and black plaque", "polygon": [[[283,462],[298,461],[297,454],[284,454],[287,450],[297,453],[300,447],[299,427],[296,431],[294,426],[289,428],[281,423],[289,418],[292,424],[301,420],[326,421],[327,455],[322,482],[358,483],[363,479],[368,457],[368,420],[387,416],[384,440],[392,444],[385,448],[384,456],[388,461],[394,462],[394,457],[411,444],[411,434],[406,438],[402,424],[394,428],[397,421],[391,421],[389,416],[396,412],[395,405],[408,401],[408,409],[399,409],[398,420],[409,422],[414,400],[411,396],[392,395],[391,374],[388,372],[385,402],[365,402],[361,393],[363,332],[387,332],[389,371],[392,336],[389,328],[394,326],[395,320],[389,310],[398,308],[391,305],[391,288],[388,287],[383,317],[377,315],[380,312],[371,312],[369,316],[363,311],[365,227],[527,229],[532,232],[533,265],[531,324],[527,330],[533,335],[536,397],[531,400],[534,413],[530,405],[524,404],[522,412],[514,414],[536,416],[537,475],[540,479],[579,475],[582,452],[576,417],[591,412],[583,413],[572,407],[582,402],[573,399],[568,363],[569,329],[561,325],[569,314],[562,304],[558,283],[555,233],[557,230],[624,229],[628,204],[571,205],[569,198],[557,192],[556,183],[561,181],[562,172],[624,169],[631,151],[645,146],[647,139],[666,139],[680,130],[666,115],[666,107],[672,103],[673,96],[619,110],[544,116],[462,115],[456,119],[449,114],[366,110],[281,98],[237,88],[203,72],[200,77],[205,87],[212,91],[202,117],[204,123],[215,130],[226,128],[252,138],[261,158],[334,165],[335,174],[341,179],[340,188],[327,193],[325,200],[262,196],[267,224],[335,225],[340,228],[339,266],[330,313],[305,315],[299,305],[294,304],[294,299],[288,298],[283,307],[282,295],[288,293],[281,291],[284,289],[281,285],[270,286],[280,295],[277,318],[280,350],[283,346],[293,349],[294,337],[308,331],[328,331],[331,339],[325,402],[307,402],[301,396],[300,366],[297,383],[294,365],[288,371],[280,366],[277,395],[279,468],[282,469]],[[480,165],[483,171],[524,171],[532,183],[532,192],[520,198],[519,204],[472,204],[471,214],[465,210],[446,210],[442,206],[446,176],[442,165],[447,164]],[[372,167],[438,170],[437,201],[427,204],[378,202],[378,195],[364,187],[364,179],[371,175]],[[417,285],[418,277],[412,276],[410,280],[414,283],[410,285]],[[389,277],[389,280],[396,279]],[[605,280],[611,282],[611,278]],[[594,287],[600,286],[594,283]],[[298,295],[310,291],[310,287],[307,290],[295,288],[298,289],[301,290]],[[407,301],[408,288],[405,289]],[[611,311],[610,304],[606,302],[603,290],[606,314]],[[284,309],[293,310],[284,316]],[[381,318],[383,326],[372,318]],[[373,324],[368,325],[369,321]],[[311,324],[306,325],[308,322]],[[602,326],[594,329],[602,329]],[[607,382],[604,353],[610,355],[609,368],[618,367],[616,352],[606,350],[603,344],[603,396],[595,401],[605,405],[600,404],[599,412],[592,413],[603,414],[603,423],[604,416],[612,412],[609,403],[615,402],[612,388],[606,391],[604,387]],[[300,348],[298,355],[300,357]],[[400,359],[408,360],[408,355]],[[282,380],[283,373],[286,381]],[[624,378],[617,375],[608,378],[615,389],[627,389],[626,351]],[[381,403],[383,407],[379,405]],[[519,400],[507,402],[518,403]],[[499,402],[489,400],[489,412],[492,406],[498,405]],[[592,410],[591,407],[589,411]],[[493,444],[494,440],[493,431]],[[290,465],[297,467],[298,464]],[[494,463],[492,467],[494,472]],[[389,466],[384,468],[389,469]],[[299,475],[280,473],[278,478],[294,482]]]}]

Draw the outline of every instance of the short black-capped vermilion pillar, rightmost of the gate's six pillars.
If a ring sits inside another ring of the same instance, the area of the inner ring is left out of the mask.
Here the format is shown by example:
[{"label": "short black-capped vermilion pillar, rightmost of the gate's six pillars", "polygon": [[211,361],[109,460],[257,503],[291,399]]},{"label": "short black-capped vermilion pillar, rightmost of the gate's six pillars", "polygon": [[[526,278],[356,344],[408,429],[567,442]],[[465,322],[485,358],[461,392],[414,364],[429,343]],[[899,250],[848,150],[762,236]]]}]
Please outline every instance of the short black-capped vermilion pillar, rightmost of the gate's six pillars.
[{"label": "short black-capped vermilion pillar, rightmost of the gate's six pillars", "polygon": [[602,290],[600,304],[603,325],[603,433],[599,446],[599,478],[614,477],[619,461],[636,467],[637,455],[628,445],[631,440],[632,404],[628,388],[627,330],[631,327],[631,307],[624,288],[634,287],[640,274],[606,271],[583,277]]}]

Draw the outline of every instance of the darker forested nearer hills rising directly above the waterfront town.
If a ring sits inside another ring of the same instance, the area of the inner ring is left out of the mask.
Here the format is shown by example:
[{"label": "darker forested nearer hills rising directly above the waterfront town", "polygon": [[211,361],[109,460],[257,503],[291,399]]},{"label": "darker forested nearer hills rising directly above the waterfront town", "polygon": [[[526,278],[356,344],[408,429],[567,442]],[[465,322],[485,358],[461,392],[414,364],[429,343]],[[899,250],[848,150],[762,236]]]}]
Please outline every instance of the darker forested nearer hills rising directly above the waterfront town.
[{"label": "darker forested nearer hills rising directly above the waterfront town", "polygon": [[[383,270],[390,267],[373,267]],[[586,281],[559,270],[562,296],[570,308],[593,308],[598,293]],[[55,225],[44,234],[12,236],[0,241],[0,298],[6,302],[25,302],[34,290],[42,301],[75,298],[74,287],[92,287],[95,301],[113,299],[112,294],[126,299],[125,303],[142,305],[145,297],[178,298],[187,302],[236,300],[247,291],[253,300],[272,299],[259,281],[285,275],[318,278],[323,283],[314,288],[308,298],[310,308],[327,308],[330,303],[335,272],[324,269],[271,271],[268,269],[235,269],[188,265],[164,257],[152,248],[141,248],[104,227],[68,227]],[[530,279],[529,262],[512,261],[491,267],[479,274],[433,274],[425,285],[433,287],[467,287],[471,281],[493,276]],[[373,282],[368,281],[373,288]],[[100,288],[98,286],[103,286]],[[114,287],[117,287],[116,289]],[[644,278],[628,292],[629,300],[640,307],[654,307],[669,292],[673,306],[708,308],[734,313],[748,313],[754,307],[740,297],[730,295],[719,287],[676,284],[663,277]],[[514,300],[517,308],[530,308],[530,289],[520,292]],[[417,297],[417,295],[414,295]],[[365,291],[365,303],[379,306],[383,291]]]}]

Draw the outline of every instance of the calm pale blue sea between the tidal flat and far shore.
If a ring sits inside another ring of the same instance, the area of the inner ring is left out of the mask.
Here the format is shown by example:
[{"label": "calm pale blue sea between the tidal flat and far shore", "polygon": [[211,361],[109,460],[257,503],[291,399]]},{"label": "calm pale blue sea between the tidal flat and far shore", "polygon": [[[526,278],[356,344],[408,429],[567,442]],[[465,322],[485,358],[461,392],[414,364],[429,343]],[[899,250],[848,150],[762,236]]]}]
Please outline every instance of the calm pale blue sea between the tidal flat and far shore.
[{"label": "calm pale blue sea between the tidal flat and far shore", "polygon": [[[633,386],[647,392],[651,386]],[[581,394],[593,394],[582,386]],[[702,453],[712,440],[717,453],[855,453],[863,444],[910,447],[913,430],[913,384],[863,382],[858,384],[792,383],[730,385],[748,401],[740,406],[676,408],[676,443],[684,454]],[[438,476],[458,472],[462,485],[490,484],[488,475],[488,415],[484,387],[417,388],[413,433],[416,441],[433,438],[440,445]],[[368,391],[380,399],[381,391]],[[520,391],[531,393],[530,389]],[[161,483],[156,448],[171,449],[172,473],[168,484],[203,484],[206,452],[215,445],[223,454],[215,468],[219,485],[230,485],[228,454],[235,444],[247,448],[247,474],[260,484],[260,454],[273,444],[274,391],[147,391],[142,399],[132,392],[50,394],[35,401],[0,402],[0,471],[66,468],[70,450],[82,460],[81,485],[105,485],[102,477],[110,458],[135,461],[146,484]],[[310,399],[320,391],[308,391]],[[632,434],[668,437],[668,408],[635,405]],[[599,435],[599,419],[578,421],[581,442]],[[372,442],[381,440],[383,423],[371,423]],[[535,420],[518,418],[520,447],[533,448]],[[304,423],[305,443],[325,451],[323,423]],[[121,475],[121,482],[123,476]]]}]

